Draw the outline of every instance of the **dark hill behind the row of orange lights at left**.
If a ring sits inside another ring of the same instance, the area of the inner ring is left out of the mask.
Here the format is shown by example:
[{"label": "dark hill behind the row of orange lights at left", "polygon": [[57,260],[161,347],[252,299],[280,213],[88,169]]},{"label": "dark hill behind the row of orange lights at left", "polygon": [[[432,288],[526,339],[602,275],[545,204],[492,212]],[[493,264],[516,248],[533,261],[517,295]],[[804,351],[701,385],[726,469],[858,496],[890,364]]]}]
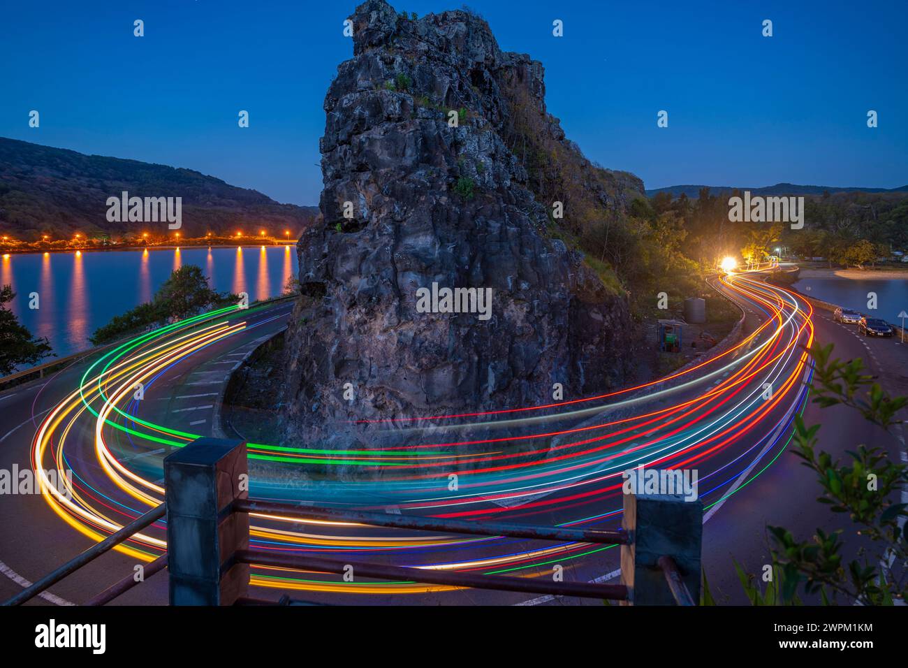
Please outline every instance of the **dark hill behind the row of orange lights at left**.
[{"label": "dark hill behind the row of orange lights at left", "polygon": [[[0,230],[26,240],[41,234],[60,237],[80,232],[139,233],[166,223],[111,223],[107,198],[123,191],[139,197],[182,197],[184,237],[231,234],[243,226],[263,227],[275,235],[302,227],[319,213],[317,206],[278,204],[255,190],[238,188],[191,169],[138,160],[84,155],[0,137]],[[253,233],[254,234],[254,233]]]}]

